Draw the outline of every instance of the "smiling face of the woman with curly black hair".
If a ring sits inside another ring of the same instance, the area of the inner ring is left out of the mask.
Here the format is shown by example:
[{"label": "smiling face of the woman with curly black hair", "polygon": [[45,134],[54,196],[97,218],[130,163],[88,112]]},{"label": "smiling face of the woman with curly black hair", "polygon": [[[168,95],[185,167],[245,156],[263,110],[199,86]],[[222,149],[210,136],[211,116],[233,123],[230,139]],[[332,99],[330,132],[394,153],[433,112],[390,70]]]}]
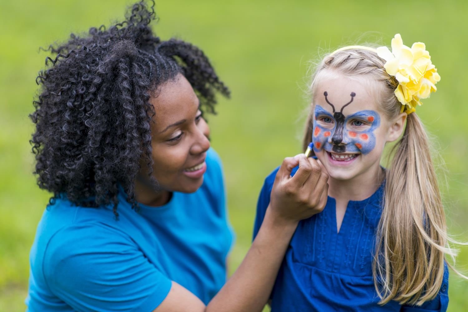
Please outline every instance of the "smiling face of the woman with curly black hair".
[{"label": "smiling face of the woman with curly black hair", "polygon": [[151,125],[153,175],[161,188],[195,192],[203,183],[210,129],[202,117],[197,95],[179,74],[151,97],[156,115]]}]

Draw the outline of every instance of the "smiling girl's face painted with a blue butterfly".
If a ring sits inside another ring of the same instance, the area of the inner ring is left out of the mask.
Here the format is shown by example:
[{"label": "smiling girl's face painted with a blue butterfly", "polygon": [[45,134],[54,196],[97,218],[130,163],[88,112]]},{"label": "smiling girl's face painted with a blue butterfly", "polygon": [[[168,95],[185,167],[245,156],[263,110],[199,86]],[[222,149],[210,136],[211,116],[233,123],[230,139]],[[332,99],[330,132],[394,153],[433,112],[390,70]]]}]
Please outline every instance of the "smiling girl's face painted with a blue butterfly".
[{"label": "smiling girl's face painted with a blue butterfly", "polygon": [[[370,84],[369,84],[370,85]],[[340,75],[314,92],[314,152],[331,178],[350,180],[376,172],[385,143],[395,140],[370,87]]]}]

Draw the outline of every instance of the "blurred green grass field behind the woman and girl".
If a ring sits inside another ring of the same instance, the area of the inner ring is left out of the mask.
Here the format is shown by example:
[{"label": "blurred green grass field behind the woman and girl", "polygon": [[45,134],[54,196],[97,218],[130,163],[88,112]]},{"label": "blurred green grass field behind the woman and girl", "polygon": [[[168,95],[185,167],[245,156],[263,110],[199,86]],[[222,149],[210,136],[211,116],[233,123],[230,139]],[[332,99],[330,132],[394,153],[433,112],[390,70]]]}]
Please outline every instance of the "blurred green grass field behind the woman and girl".
[{"label": "blurred green grass field behind the woman and girl", "polygon": [[[120,19],[128,0],[1,1],[0,40],[0,311],[24,311],[28,255],[49,195],[37,188],[29,137],[38,52],[71,31]],[[308,61],[358,38],[389,44],[422,41],[442,77],[419,116],[448,169],[443,187],[450,232],[468,240],[468,4],[465,1],[157,1],[154,29],[200,46],[232,99],[209,117],[212,145],[225,167],[229,215],[236,232],[230,272],[250,245],[264,177],[300,151]],[[465,34],[465,35],[463,35]],[[442,166],[443,164],[441,164]],[[443,166],[442,166],[443,167]],[[468,271],[468,247],[459,268]],[[468,282],[451,274],[449,311],[468,311]]]}]

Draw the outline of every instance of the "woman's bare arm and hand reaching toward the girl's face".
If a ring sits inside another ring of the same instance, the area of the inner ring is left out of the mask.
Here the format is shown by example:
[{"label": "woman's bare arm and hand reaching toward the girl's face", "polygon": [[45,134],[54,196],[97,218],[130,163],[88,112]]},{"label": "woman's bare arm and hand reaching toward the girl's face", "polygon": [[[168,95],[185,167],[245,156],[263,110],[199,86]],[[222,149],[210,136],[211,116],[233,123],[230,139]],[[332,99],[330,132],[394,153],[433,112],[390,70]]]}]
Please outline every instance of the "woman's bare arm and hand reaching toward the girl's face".
[{"label": "woman's bare arm and hand reaching toward the girl's face", "polygon": [[[300,165],[291,177],[292,168]],[[154,312],[261,311],[271,293],[286,248],[300,220],[325,207],[328,175],[314,159],[286,158],[275,177],[271,203],[240,267],[205,306],[195,295],[172,283],[168,296]]]}]

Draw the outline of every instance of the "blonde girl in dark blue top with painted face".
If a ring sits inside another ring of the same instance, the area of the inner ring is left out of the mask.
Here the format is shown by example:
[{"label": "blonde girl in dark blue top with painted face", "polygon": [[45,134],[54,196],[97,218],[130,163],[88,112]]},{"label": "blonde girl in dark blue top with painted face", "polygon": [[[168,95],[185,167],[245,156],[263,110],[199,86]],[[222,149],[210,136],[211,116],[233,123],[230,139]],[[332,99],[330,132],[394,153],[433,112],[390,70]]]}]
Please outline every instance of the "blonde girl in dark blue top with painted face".
[{"label": "blonde girl in dark blue top with painted face", "polygon": [[[312,142],[329,174],[328,200],[292,237],[271,293],[273,312],[446,310],[451,251],[415,113],[439,79],[424,44],[409,48],[399,34],[392,52],[350,46],[318,65],[304,149]],[[401,134],[390,169],[380,167],[385,144]],[[260,193],[254,237],[275,174]]]}]

